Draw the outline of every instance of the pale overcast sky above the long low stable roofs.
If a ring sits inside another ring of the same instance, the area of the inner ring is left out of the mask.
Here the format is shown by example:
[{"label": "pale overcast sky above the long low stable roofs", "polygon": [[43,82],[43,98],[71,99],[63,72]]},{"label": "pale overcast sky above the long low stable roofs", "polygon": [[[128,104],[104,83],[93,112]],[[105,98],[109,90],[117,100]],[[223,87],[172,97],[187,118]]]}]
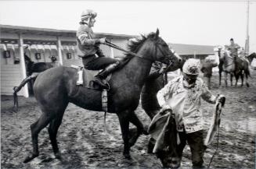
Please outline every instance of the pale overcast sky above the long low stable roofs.
[{"label": "pale overcast sky above the long low stable roofs", "polygon": [[[77,30],[84,9],[98,16],[99,33],[139,35],[160,29],[177,44],[244,46],[247,1],[0,1],[0,23]],[[250,2],[250,51],[256,51],[256,0]]]}]

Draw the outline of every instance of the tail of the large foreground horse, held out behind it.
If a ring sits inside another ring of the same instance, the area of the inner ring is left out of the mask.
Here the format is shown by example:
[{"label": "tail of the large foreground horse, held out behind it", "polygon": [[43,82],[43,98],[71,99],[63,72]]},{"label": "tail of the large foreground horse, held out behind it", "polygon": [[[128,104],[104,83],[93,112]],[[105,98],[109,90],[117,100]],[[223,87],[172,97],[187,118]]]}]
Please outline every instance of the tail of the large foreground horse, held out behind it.
[{"label": "tail of the large foreground horse, held out behind it", "polygon": [[18,111],[19,103],[18,103],[18,96],[17,93],[25,86],[26,83],[30,82],[32,79],[35,79],[38,74],[34,74],[33,76],[27,76],[25,79],[22,80],[19,86],[13,87],[13,109]]}]

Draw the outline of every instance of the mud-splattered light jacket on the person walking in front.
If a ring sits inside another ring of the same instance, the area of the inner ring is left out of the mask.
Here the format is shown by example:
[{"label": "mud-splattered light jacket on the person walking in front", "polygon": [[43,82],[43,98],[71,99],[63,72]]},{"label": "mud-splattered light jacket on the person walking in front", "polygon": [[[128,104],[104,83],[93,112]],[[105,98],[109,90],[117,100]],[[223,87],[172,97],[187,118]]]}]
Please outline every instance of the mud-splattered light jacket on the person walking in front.
[{"label": "mud-splattered light jacket on the person walking in front", "polygon": [[200,111],[200,98],[215,104],[216,97],[211,94],[204,81],[197,78],[195,85],[187,88],[183,85],[183,76],[172,79],[157,93],[160,107],[168,104],[175,114],[178,132],[197,132],[203,129],[203,114]]}]

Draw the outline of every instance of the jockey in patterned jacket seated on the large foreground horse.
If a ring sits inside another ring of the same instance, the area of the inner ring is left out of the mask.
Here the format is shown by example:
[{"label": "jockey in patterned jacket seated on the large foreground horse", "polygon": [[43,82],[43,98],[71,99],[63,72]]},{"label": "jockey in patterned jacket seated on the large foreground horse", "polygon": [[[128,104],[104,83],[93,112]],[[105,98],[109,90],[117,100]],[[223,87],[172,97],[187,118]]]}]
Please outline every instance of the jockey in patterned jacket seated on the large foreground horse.
[{"label": "jockey in patterned jacket seated on the large foreground horse", "polygon": [[[81,22],[77,31],[77,48],[78,56],[82,58],[85,69],[88,70],[101,70],[98,75],[95,76],[93,82],[99,84],[103,88],[108,86],[103,83],[103,79],[106,78],[111,72],[114,72],[119,66],[119,62],[114,58],[106,58],[103,55],[103,51],[99,48],[99,44],[104,44],[106,38],[96,38],[92,31],[92,26],[96,22],[97,13],[91,9],[87,9],[81,13]],[[78,79],[78,82],[81,79]],[[78,83],[79,85],[79,83]]]}]

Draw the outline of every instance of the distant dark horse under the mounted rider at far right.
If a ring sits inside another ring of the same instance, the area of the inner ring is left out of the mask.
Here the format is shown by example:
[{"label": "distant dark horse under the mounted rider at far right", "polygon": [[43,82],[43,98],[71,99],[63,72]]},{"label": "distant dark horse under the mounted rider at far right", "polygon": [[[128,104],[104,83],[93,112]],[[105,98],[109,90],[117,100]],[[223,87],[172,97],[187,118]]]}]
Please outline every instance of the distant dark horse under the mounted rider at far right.
[{"label": "distant dark horse under the mounted rider at far right", "polygon": [[241,86],[243,86],[243,76],[246,76],[246,84],[247,86],[250,86],[247,79],[248,76],[250,76],[250,70],[249,70],[249,63],[239,57],[231,57],[229,55],[229,51],[222,50],[221,52],[221,59],[223,60],[223,67],[225,69],[225,86],[228,86],[227,83],[227,74],[230,74],[230,83],[231,86],[233,85],[233,76],[236,77],[236,85],[239,77],[241,77],[242,83]]}]

